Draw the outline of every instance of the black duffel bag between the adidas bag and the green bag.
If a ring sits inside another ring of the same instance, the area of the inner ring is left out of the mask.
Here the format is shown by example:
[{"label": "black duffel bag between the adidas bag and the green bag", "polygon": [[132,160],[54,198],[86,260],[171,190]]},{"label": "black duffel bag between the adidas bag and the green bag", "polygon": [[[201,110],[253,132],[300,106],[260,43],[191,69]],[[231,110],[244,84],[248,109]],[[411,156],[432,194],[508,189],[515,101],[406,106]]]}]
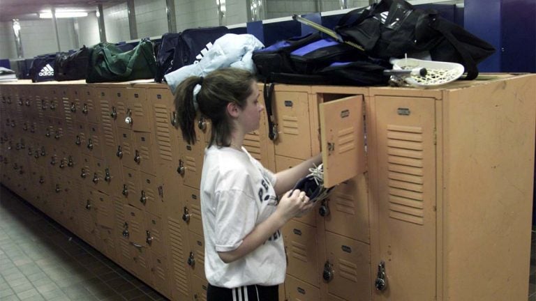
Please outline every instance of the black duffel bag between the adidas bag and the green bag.
[{"label": "black duffel bag between the adidas bag and the green bag", "polygon": [[58,82],[86,79],[91,48],[82,46],[77,52],[61,52],[54,61],[54,79]]}]

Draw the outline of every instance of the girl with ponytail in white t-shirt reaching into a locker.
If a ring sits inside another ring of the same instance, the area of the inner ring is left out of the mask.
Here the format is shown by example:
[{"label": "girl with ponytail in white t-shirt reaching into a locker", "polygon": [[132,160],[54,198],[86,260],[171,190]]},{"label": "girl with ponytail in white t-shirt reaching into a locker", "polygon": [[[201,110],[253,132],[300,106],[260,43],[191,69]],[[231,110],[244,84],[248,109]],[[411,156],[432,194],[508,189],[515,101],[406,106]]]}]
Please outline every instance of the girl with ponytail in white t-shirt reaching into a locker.
[{"label": "girl with ponytail in white t-shirt reaching into a locker", "polygon": [[321,156],[274,174],[242,147],[244,136],[259,128],[264,109],[251,72],[225,68],[188,77],[176,94],[189,144],[196,141],[198,111],[212,125],[200,186],[207,300],[278,300],[286,269],[279,229],[313,208],[305,192],[291,190]]}]

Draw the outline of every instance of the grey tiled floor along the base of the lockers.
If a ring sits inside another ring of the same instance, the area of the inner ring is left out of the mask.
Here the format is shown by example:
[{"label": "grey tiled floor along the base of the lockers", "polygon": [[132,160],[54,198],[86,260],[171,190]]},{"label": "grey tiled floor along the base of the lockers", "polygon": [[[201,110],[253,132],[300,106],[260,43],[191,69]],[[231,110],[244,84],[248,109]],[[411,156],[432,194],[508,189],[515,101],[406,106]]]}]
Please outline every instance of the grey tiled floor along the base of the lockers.
[{"label": "grey tiled floor along the base of the lockers", "polygon": [[[536,301],[536,228],[528,301]],[[0,300],[166,300],[0,185]]]}]

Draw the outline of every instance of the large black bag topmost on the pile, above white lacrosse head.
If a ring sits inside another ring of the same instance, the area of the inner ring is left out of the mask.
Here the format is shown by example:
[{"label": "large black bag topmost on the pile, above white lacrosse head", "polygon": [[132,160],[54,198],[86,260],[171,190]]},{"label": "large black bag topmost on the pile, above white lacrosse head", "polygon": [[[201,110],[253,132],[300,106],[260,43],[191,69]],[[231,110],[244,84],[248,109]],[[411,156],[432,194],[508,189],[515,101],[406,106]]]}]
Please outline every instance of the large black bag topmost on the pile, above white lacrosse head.
[{"label": "large black bag topmost on the pile, above white lacrosse head", "polygon": [[369,56],[389,59],[429,52],[433,61],[461,63],[466,79],[475,79],[477,64],[495,52],[437,10],[420,10],[403,0],[382,0],[352,10],[341,17],[335,31],[343,40],[364,47]]}]

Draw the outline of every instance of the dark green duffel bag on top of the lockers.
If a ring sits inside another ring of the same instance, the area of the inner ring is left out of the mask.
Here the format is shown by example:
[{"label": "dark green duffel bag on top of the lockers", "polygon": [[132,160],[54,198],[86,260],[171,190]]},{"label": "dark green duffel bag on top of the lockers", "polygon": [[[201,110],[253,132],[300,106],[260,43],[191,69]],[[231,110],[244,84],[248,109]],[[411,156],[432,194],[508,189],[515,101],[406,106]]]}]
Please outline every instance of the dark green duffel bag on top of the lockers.
[{"label": "dark green duffel bag on top of the lockers", "polygon": [[154,79],[156,59],[153,45],[143,39],[126,52],[110,43],[93,47],[87,70],[87,83],[128,82],[135,79]]}]

